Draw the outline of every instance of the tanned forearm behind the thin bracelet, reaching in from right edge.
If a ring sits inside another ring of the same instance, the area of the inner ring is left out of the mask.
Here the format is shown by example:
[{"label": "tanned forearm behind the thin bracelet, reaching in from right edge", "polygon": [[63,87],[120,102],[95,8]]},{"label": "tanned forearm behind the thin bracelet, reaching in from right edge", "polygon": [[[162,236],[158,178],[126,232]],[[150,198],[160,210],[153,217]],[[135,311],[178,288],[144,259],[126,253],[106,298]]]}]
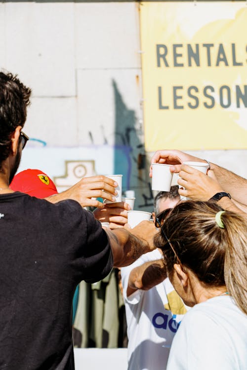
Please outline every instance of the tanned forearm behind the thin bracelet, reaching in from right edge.
[{"label": "tanned forearm behind the thin bracelet, reaching in from right edge", "polygon": [[211,163],[211,169],[224,191],[230,193],[236,201],[247,205],[247,180],[214,163]]}]

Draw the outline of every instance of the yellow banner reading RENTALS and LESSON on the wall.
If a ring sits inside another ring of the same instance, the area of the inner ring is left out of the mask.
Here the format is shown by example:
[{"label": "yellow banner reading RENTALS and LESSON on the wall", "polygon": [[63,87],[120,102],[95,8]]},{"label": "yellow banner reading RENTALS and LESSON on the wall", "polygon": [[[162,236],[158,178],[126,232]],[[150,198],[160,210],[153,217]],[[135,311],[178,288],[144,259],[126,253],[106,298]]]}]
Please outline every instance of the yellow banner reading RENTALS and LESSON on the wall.
[{"label": "yellow banner reading RENTALS and LESSON on the wall", "polygon": [[145,147],[247,148],[247,6],[140,5]]}]

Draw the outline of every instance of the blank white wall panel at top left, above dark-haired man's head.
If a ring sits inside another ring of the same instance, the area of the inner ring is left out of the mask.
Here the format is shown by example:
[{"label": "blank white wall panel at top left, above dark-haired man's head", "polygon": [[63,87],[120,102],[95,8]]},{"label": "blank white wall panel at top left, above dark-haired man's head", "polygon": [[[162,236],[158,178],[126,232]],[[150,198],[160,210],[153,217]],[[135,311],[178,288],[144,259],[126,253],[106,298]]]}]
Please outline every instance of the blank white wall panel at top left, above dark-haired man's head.
[{"label": "blank white wall panel at top left, above dark-haired man's head", "polygon": [[6,2],[6,59],[35,96],[75,96],[74,4]]}]

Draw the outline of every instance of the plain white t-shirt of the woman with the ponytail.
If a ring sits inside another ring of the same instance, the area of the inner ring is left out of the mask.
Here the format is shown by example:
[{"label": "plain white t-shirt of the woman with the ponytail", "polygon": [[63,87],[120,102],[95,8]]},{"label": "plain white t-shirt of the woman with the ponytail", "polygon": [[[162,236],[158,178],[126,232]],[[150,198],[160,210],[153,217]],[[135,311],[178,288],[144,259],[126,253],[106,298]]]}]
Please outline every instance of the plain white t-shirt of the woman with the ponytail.
[{"label": "plain white t-shirt of the woman with the ponytail", "polygon": [[172,342],[167,370],[247,370],[247,315],[230,296],[190,309]]}]

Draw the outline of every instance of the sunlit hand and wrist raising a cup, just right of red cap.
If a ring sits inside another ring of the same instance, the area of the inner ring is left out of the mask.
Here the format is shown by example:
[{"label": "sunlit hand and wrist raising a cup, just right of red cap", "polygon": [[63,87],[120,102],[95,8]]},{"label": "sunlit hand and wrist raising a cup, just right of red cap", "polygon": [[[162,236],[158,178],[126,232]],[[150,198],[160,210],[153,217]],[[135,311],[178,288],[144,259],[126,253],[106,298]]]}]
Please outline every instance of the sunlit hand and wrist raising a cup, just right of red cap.
[{"label": "sunlit hand and wrist raising a cup, just right of red cap", "polygon": [[117,194],[115,187],[117,186],[118,184],[114,180],[103,175],[83,177],[82,180],[69,189],[45,199],[51,203],[57,203],[65,199],[74,199],[82,207],[103,208],[103,203],[96,198],[115,201],[114,196]]}]

